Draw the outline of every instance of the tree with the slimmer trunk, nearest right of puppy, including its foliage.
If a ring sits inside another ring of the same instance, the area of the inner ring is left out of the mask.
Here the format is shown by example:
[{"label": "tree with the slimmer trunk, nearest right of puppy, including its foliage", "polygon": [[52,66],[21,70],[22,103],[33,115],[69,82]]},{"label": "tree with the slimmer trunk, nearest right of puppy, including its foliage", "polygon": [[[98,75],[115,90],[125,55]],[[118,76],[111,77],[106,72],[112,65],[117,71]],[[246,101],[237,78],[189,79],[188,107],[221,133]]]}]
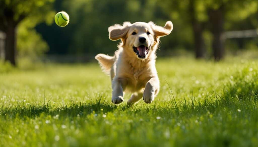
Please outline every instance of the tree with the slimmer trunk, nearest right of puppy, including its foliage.
[{"label": "tree with the slimmer trunk, nearest right of puppy, including its foliage", "polygon": [[[185,1],[162,1],[163,10],[167,14],[171,14],[172,21],[180,23],[182,28],[190,26],[193,40],[193,46],[196,58],[204,58],[206,52],[205,40],[203,31],[205,29],[206,17],[201,12],[203,11],[203,3],[200,0],[185,0]],[[183,29],[180,31],[182,32]],[[188,32],[189,34],[189,32]]]}]

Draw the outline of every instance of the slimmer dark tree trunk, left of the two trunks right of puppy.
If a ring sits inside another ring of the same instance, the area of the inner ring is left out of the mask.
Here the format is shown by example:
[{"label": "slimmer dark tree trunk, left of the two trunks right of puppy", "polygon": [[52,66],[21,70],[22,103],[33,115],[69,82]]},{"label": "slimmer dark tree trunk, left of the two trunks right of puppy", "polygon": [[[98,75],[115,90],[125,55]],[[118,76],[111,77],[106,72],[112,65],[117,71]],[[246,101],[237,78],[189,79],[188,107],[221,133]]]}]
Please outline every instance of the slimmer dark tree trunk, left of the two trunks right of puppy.
[{"label": "slimmer dark tree trunk, left of the two trunks right of puppy", "polygon": [[194,49],[195,49],[195,57],[204,58],[205,56],[205,43],[203,39],[203,26],[202,23],[196,19],[196,11],[195,11],[195,2],[194,0],[190,0],[189,13],[191,16],[191,24],[193,30],[193,39],[194,39]]}]

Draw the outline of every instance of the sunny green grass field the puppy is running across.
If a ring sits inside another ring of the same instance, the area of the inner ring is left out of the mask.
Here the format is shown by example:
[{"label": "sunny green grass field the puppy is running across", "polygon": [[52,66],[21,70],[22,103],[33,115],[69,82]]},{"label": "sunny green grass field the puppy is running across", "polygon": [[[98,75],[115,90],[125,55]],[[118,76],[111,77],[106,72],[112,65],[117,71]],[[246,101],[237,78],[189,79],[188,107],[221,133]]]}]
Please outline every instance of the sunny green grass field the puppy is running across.
[{"label": "sunny green grass field the puppy is running across", "polygon": [[0,146],[258,146],[258,66],[158,58],[151,104],[111,103],[97,63],[0,73]]}]

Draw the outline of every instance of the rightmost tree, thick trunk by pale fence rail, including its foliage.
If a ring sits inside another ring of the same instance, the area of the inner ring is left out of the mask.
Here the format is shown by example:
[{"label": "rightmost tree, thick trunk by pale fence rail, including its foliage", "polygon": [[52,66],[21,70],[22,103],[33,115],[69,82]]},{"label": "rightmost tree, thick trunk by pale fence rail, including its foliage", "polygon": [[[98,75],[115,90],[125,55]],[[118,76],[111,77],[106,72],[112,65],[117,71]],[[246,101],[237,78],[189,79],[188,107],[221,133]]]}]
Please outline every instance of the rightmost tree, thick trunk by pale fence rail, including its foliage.
[{"label": "rightmost tree, thick trunk by pale fence rail, including its foliage", "polygon": [[[236,24],[245,20],[251,14],[257,12],[258,2],[256,0],[227,0],[227,1],[205,1],[206,13],[210,24],[210,31],[213,34],[213,56],[216,61],[224,56],[223,32],[225,20],[228,25]],[[230,28],[228,28],[230,29]]]}]

